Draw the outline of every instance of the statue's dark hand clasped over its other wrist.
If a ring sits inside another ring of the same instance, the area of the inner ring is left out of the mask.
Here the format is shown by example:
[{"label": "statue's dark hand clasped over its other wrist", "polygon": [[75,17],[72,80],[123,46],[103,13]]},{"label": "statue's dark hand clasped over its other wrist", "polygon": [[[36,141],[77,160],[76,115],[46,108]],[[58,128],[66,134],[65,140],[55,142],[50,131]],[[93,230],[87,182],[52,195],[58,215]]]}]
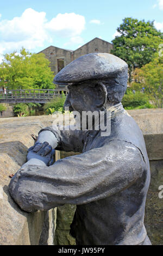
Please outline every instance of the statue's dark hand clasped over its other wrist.
[{"label": "statue's dark hand clasped over its other wrist", "polygon": [[39,159],[47,166],[51,166],[54,162],[55,150],[52,149],[48,142],[35,143],[35,145],[28,149],[27,161],[30,159]]}]

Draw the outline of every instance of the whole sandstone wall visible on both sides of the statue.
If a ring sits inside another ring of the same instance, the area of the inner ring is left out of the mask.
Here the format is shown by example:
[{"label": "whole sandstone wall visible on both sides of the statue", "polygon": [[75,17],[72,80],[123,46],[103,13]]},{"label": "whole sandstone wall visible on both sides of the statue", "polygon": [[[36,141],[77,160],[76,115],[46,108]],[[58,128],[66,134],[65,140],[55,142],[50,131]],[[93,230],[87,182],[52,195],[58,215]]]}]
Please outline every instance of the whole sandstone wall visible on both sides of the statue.
[{"label": "whole sandstone wall visible on both sides of the statue", "polygon": [[[158,197],[158,188],[163,185],[163,109],[140,109],[128,113],[143,132],[151,165],[151,185],[145,213],[147,233],[153,245],[162,245],[163,199]],[[37,135],[42,127],[51,125],[52,121],[50,115],[0,119],[0,245],[75,244],[69,235],[75,206],[64,205],[58,209],[28,214],[18,208],[8,193],[9,175],[14,174],[26,161],[27,148],[33,145],[30,134]],[[74,153],[60,152],[60,155],[66,157]]]}]

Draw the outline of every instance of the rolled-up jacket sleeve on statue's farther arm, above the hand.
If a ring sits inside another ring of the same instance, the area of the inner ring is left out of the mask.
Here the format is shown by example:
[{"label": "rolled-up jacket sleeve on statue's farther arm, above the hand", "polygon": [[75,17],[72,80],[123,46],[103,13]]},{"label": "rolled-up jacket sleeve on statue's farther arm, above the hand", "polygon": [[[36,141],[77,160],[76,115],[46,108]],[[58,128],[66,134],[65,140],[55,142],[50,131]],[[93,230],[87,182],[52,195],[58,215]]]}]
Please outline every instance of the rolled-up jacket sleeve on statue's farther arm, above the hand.
[{"label": "rolled-up jacket sleeve on statue's farther arm, above the hand", "polygon": [[87,131],[82,130],[55,130],[53,126],[48,126],[39,131],[51,131],[55,135],[58,141],[57,150],[82,152]]}]

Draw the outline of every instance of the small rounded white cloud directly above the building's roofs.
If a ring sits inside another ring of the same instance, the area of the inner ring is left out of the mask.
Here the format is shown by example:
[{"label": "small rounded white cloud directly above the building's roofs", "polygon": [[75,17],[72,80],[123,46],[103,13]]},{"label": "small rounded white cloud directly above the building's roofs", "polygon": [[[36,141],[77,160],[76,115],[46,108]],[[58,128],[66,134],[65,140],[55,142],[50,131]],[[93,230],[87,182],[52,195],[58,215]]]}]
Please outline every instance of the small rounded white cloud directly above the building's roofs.
[{"label": "small rounded white cloud directly above the building's roofs", "polygon": [[80,35],[85,28],[85,17],[75,13],[58,14],[45,28],[64,37]]}]

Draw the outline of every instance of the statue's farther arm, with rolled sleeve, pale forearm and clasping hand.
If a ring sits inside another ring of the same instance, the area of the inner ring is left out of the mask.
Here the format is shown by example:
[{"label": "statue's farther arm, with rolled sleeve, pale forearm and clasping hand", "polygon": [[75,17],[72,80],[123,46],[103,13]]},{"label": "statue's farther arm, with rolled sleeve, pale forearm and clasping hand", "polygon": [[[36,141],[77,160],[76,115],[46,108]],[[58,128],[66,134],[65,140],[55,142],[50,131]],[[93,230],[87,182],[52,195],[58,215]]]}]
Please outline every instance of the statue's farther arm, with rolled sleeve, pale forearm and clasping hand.
[{"label": "statue's farther arm, with rolled sleeve, pale forearm and clasping hand", "polygon": [[23,167],[52,165],[55,152],[52,149],[82,152],[85,138],[86,131],[60,131],[54,130],[52,126],[46,127],[40,130],[36,144],[28,149],[27,162]]}]

